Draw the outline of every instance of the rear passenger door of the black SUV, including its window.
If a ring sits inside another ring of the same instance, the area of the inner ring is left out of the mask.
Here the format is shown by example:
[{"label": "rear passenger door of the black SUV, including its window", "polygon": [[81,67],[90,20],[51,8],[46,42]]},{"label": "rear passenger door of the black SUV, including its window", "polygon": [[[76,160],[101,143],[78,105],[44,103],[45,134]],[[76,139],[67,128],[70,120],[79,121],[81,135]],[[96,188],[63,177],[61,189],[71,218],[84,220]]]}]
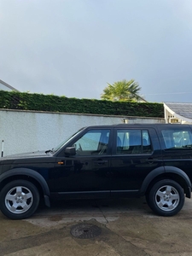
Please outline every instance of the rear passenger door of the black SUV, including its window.
[{"label": "rear passenger door of the black SUV, including its window", "polygon": [[137,195],[148,173],[162,165],[156,131],[118,128],[113,138],[111,195]]}]

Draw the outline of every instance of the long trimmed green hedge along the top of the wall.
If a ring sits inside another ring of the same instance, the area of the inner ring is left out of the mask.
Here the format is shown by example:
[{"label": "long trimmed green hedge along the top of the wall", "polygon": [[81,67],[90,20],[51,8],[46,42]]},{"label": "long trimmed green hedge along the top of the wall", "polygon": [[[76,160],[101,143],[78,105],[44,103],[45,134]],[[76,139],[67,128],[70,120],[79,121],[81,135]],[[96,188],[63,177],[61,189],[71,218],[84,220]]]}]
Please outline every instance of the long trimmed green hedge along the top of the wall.
[{"label": "long trimmed green hedge along the top of the wall", "polygon": [[0,108],[62,113],[164,117],[164,108],[161,103],[109,102],[5,90],[0,90]]}]

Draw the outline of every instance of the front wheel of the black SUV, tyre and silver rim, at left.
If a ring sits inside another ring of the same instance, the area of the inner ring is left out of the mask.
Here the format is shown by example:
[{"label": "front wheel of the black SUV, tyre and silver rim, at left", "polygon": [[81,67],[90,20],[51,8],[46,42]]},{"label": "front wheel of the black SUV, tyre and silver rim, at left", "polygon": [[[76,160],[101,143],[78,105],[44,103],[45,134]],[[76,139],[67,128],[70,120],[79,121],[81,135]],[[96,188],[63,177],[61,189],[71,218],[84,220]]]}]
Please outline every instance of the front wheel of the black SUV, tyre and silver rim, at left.
[{"label": "front wheel of the black SUV, tyre and silver rim, at left", "polygon": [[0,209],[8,218],[29,218],[37,210],[38,204],[38,189],[26,180],[12,181],[1,190]]}]

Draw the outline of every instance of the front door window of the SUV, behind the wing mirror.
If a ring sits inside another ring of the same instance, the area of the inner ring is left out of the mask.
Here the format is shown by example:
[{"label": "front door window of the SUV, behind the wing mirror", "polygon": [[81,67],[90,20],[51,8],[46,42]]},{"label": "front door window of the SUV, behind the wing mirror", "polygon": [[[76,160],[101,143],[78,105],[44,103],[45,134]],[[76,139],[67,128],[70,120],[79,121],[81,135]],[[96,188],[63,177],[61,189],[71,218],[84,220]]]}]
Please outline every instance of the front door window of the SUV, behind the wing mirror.
[{"label": "front door window of the SUV, behind the wing mirror", "polygon": [[77,155],[107,154],[110,130],[90,130],[80,137],[73,147]]}]

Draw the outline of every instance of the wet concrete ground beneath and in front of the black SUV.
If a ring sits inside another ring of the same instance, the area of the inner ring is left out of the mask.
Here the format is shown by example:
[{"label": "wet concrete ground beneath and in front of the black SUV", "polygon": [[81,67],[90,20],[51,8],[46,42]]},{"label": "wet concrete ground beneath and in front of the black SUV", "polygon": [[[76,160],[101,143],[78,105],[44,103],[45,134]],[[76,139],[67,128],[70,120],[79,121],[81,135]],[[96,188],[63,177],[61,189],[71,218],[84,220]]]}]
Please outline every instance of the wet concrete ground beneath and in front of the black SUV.
[{"label": "wet concrete ground beneath and in front of the black SUV", "polygon": [[[144,198],[61,201],[17,221],[0,212],[0,256],[191,256],[191,213],[192,200],[186,199],[176,216],[159,217]],[[94,225],[101,234],[75,237],[75,224]]]}]

